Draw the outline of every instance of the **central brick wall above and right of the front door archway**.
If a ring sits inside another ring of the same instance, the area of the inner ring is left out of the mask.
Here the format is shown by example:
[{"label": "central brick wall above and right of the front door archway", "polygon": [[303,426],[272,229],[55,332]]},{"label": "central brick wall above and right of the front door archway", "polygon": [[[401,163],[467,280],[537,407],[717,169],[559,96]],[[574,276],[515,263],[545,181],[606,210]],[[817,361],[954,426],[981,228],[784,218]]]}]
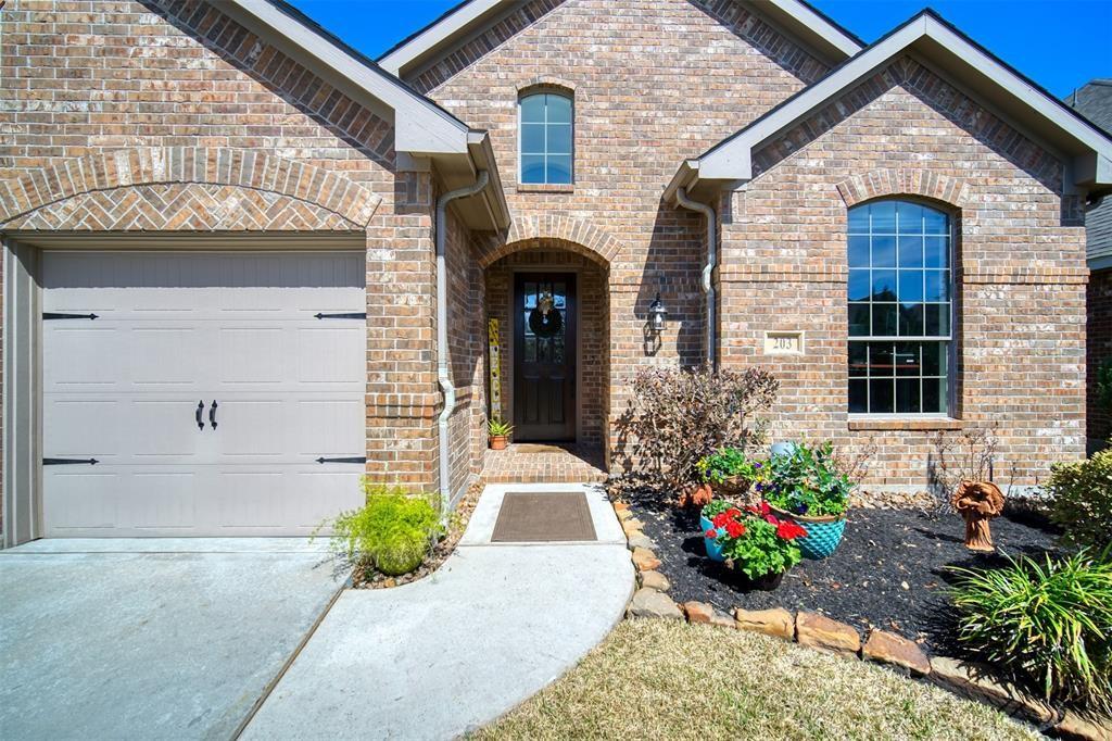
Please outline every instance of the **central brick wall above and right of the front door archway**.
[{"label": "central brick wall above and right of the front door archway", "polygon": [[[599,404],[613,423],[638,367],[703,357],[705,227],[662,204],[664,187],[684,158],[824,72],[741,3],[628,0],[615,12],[612,0],[537,0],[410,81],[490,131],[514,217],[504,241],[559,238],[608,261],[609,381]],[[517,184],[518,92],[537,83],[574,92],[576,174],[566,191]],[[480,258],[490,249],[478,247]],[[671,318],[659,350],[647,353],[658,290]]]}]

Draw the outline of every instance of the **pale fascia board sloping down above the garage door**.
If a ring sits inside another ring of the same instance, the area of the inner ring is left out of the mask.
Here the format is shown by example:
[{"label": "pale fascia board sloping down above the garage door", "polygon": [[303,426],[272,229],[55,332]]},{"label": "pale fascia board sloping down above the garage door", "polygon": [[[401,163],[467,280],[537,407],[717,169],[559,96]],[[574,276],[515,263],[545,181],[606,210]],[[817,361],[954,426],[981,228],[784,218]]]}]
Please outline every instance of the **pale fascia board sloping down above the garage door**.
[{"label": "pale fascia board sloping down above the garage door", "polygon": [[468,127],[385,72],[371,69],[344,49],[267,0],[226,0],[257,26],[270,29],[296,50],[295,58],[325,69],[328,77],[354,85],[394,111],[395,149],[418,154],[466,154]]}]

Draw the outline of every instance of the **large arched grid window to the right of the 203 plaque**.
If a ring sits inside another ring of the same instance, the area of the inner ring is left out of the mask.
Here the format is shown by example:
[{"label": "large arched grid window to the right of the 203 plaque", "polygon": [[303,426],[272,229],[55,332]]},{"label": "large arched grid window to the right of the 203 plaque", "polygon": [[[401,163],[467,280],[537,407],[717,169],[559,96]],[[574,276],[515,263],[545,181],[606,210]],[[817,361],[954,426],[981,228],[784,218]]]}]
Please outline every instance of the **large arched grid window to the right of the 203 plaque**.
[{"label": "large arched grid window to the right of the 203 plaque", "polygon": [[906,200],[850,210],[850,412],[949,415],[950,217]]}]

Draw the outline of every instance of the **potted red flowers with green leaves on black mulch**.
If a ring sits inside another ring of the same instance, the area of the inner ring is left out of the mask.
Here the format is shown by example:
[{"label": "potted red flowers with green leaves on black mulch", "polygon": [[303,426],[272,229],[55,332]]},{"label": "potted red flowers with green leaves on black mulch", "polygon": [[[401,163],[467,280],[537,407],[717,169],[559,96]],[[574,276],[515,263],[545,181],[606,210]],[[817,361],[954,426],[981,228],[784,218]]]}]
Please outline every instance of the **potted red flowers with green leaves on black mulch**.
[{"label": "potted red flowers with green leaves on black mulch", "polygon": [[[726,565],[748,589],[776,589],[787,570],[803,559],[796,540],[807,531],[778,518],[765,502],[745,510],[731,507],[715,515],[712,524]],[[709,531],[704,533],[707,535]]]}]

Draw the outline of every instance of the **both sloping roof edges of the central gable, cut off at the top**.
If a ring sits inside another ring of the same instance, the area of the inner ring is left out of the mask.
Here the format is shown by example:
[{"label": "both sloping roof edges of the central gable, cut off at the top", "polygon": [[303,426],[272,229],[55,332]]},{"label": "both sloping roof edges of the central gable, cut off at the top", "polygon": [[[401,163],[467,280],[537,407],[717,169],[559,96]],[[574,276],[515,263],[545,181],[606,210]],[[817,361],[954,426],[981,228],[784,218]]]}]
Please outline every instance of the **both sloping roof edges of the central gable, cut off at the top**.
[{"label": "both sloping roof edges of the central gable, cut off at the top", "polygon": [[[404,77],[523,4],[525,0],[464,0],[389,49],[378,58],[378,63],[387,71]],[[803,0],[761,0],[756,10],[832,63],[841,62],[864,47],[861,39]]]}]

